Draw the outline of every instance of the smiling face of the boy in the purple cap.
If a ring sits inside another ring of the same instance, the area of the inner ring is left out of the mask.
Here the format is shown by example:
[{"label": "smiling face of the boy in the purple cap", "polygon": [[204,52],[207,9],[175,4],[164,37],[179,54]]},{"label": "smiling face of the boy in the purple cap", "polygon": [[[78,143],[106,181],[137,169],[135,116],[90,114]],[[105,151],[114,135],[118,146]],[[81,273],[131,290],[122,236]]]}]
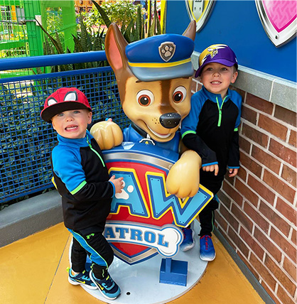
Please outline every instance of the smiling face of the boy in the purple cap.
[{"label": "smiling face of the boy in the purple cap", "polygon": [[227,67],[220,63],[208,63],[202,70],[200,80],[207,91],[221,94],[222,99],[227,94],[228,87],[237,79],[238,72],[234,66]]}]

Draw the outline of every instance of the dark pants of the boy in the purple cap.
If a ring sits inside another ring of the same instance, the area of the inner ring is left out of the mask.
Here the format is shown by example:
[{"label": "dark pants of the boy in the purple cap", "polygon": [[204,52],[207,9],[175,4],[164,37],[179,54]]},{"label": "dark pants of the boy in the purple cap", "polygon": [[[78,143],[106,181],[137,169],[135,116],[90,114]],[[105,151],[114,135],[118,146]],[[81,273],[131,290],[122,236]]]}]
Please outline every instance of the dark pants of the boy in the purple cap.
[{"label": "dark pants of the boy in the purple cap", "polygon": [[[200,170],[200,184],[203,185],[207,190],[210,190],[213,195],[222,187],[222,182],[224,180],[224,175],[217,175],[213,172],[205,172]],[[212,198],[212,200],[204,207],[204,209],[199,213],[200,220],[200,237],[203,235],[212,236],[212,231],[215,225],[215,210],[219,207],[219,202]]]}]

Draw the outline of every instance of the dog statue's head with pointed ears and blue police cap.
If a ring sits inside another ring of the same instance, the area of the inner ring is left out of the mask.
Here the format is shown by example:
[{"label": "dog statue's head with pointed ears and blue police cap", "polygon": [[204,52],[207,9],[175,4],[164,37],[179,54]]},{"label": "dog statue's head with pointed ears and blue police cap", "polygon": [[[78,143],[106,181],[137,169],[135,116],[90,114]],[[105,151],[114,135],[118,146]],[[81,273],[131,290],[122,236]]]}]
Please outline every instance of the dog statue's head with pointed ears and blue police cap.
[{"label": "dog statue's head with pointed ears and blue police cap", "polygon": [[173,139],[190,112],[195,21],[183,35],[164,34],[128,44],[116,24],[105,38],[124,113],[151,139]]}]

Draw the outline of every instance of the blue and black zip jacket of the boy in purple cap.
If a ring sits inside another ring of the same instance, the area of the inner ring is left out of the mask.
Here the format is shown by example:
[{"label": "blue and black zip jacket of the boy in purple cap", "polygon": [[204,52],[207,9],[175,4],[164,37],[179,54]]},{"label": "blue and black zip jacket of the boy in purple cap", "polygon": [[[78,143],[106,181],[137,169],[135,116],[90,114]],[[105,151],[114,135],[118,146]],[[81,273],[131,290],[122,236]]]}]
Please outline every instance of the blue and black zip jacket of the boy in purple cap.
[{"label": "blue and black zip jacket of the boy in purple cap", "polygon": [[205,87],[193,94],[191,110],[182,121],[181,134],[186,147],[202,158],[202,167],[219,165],[222,178],[229,168],[239,168],[239,135],[242,97],[232,89],[222,100]]}]

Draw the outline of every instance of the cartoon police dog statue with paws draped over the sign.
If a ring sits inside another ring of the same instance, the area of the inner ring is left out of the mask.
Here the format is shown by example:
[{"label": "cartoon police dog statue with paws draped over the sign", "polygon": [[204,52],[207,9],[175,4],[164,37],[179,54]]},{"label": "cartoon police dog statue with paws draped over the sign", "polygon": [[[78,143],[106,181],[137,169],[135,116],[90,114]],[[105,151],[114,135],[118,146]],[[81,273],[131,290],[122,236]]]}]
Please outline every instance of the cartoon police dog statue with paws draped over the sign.
[{"label": "cartoon police dog statue with paws draped over the sign", "polygon": [[[129,45],[116,24],[109,26],[105,52],[131,125],[122,135],[112,121],[95,124],[91,133],[102,150],[121,144],[124,136],[124,141],[144,141],[180,152],[180,121],[190,112],[194,39],[195,21],[183,36],[164,34]],[[168,192],[193,197],[199,188],[200,166],[197,153],[183,152],[166,178]]]}]

